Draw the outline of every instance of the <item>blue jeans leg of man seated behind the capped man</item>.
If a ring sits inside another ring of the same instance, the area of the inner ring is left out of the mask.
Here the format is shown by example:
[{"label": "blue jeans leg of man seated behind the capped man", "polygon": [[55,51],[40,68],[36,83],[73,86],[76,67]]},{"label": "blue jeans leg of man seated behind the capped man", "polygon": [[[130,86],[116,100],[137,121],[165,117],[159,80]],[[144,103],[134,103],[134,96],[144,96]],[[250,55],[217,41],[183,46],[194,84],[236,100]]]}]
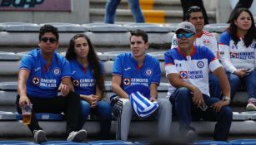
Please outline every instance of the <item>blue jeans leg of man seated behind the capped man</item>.
[{"label": "blue jeans leg of man seated behind the capped man", "polygon": [[222,99],[221,88],[219,85],[218,78],[212,72],[209,72],[208,77],[209,77],[208,82],[209,82],[210,96],[214,98]]}]

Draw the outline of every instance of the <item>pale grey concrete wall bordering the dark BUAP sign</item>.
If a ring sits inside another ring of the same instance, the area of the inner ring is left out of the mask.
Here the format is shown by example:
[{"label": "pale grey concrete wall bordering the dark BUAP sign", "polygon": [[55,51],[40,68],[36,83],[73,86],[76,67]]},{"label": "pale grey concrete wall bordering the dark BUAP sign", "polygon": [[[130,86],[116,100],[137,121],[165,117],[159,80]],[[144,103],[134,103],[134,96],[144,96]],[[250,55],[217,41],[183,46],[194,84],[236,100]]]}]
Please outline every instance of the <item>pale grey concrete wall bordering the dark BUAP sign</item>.
[{"label": "pale grey concrete wall bordering the dark BUAP sign", "polygon": [[89,0],[73,0],[72,12],[0,12],[0,22],[89,22]]}]

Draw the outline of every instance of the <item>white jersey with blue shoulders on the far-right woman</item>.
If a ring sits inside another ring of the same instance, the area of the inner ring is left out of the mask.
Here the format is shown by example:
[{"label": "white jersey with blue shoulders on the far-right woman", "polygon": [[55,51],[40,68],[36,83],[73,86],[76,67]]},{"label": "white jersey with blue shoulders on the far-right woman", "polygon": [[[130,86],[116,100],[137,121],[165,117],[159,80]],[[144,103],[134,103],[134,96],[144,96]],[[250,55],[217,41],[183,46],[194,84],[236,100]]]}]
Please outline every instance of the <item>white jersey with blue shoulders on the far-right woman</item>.
[{"label": "white jersey with blue shoulders on the far-right woman", "polygon": [[230,34],[225,31],[219,38],[219,51],[223,67],[228,72],[233,73],[237,69],[252,69],[255,60],[256,41],[248,47],[244,46],[243,39],[240,38],[235,45]]}]

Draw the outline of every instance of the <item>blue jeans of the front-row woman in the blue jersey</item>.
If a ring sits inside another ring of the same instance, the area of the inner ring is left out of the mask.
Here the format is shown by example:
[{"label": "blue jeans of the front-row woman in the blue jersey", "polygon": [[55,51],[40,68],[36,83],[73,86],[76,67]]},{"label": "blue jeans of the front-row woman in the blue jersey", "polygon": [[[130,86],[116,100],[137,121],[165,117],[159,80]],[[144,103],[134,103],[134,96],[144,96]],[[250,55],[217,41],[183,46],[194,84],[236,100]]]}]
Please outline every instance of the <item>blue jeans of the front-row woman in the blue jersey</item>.
[{"label": "blue jeans of the front-row woman in the blue jersey", "polygon": [[[88,102],[81,100],[81,126],[87,120],[88,115],[91,114],[91,106]],[[93,110],[92,110],[93,111]],[[112,120],[112,108],[107,101],[98,101],[95,111],[99,114],[100,128],[101,128],[101,138],[108,139]]]}]

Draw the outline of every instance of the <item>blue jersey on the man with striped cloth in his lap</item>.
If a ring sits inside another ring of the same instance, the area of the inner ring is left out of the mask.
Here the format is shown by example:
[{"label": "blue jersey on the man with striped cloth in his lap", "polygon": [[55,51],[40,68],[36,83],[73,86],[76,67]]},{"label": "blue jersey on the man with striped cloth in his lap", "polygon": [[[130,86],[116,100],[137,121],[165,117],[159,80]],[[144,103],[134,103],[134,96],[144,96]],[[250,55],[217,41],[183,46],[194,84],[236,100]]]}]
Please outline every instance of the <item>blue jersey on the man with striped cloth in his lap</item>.
[{"label": "blue jersey on the man with striped cloth in his lap", "polygon": [[161,70],[159,61],[152,56],[145,54],[143,66],[138,68],[137,61],[132,53],[123,53],[115,58],[113,64],[113,75],[120,75],[122,78],[121,87],[125,89],[129,85],[159,84]]}]

